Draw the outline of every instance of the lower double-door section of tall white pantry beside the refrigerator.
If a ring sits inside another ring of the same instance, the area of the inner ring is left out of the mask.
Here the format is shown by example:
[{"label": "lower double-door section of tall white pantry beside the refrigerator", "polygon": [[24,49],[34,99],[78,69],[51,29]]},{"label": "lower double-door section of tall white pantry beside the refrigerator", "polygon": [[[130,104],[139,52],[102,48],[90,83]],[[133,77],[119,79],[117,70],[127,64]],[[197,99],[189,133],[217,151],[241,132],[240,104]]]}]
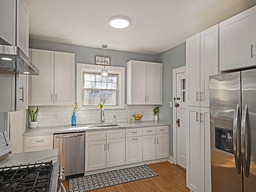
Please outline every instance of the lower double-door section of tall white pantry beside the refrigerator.
[{"label": "lower double-door section of tall white pantry beside the refrigerator", "polygon": [[210,109],[187,106],[186,110],[187,187],[193,192],[210,192]]}]

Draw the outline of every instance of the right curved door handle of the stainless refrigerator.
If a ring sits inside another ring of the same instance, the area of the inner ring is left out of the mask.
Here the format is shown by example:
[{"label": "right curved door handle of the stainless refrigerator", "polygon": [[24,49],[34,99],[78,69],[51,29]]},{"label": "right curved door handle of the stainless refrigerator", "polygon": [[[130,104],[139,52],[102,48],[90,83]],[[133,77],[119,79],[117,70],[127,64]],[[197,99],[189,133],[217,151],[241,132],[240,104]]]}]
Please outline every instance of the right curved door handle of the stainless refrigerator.
[{"label": "right curved door handle of the stainless refrigerator", "polygon": [[[244,104],[242,108],[242,128],[241,128],[241,150],[242,150],[242,162],[243,162],[243,167],[244,167],[244,176],[247,178],[249,177],[249,172],[250,172],[250,158],[251,158],[251,142],[250,142],[250,137],[247,138],[248,144],[247,144],[247,155],[246,155],[246,149],[245,149],[245,128],[247,127],[248,130],[250,129],[250,124],[249,122],[246,122],[247,120],[247,105]],[[246,159],[247,157],[247,159]]]}]

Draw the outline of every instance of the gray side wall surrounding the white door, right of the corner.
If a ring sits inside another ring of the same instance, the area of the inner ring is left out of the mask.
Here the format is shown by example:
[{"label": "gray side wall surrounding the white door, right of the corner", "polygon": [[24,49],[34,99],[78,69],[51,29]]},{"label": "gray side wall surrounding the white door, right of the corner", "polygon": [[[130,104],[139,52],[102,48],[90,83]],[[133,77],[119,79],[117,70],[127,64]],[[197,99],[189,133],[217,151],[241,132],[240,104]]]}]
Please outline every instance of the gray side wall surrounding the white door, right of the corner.
[{"label": "gray side wall surrounding the white door, right of the corner", "polygon": [[163,64],[163,105],[159,106],[159,120],[170,123],[170,156],[173,156],[172,129],[172,69],[186,65],[186,43],[157,55],[157,62]]}]

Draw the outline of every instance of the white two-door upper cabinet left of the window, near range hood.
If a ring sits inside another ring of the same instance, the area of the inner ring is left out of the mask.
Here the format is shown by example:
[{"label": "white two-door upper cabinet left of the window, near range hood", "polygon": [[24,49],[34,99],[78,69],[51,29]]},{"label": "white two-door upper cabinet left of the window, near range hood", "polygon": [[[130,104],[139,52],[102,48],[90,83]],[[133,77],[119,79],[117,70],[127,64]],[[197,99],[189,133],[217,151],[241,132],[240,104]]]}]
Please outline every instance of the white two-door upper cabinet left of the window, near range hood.
[{"label": "white two-door upper cabinet left of the window, near range hood", "polygon": [[31,106],[74,104],[74,54],[32,49]]}]

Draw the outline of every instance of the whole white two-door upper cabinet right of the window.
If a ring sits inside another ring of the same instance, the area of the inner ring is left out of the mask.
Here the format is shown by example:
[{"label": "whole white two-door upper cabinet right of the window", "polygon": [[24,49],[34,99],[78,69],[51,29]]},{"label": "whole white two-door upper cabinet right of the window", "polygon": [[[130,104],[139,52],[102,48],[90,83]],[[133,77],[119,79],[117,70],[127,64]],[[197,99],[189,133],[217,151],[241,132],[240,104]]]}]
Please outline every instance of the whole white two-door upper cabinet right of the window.
[{"label": "whole white two-door upper cabinet right of the window", "polygon": [[130,60],[127,62],[128,105],[162,104],[162,64]]}]

